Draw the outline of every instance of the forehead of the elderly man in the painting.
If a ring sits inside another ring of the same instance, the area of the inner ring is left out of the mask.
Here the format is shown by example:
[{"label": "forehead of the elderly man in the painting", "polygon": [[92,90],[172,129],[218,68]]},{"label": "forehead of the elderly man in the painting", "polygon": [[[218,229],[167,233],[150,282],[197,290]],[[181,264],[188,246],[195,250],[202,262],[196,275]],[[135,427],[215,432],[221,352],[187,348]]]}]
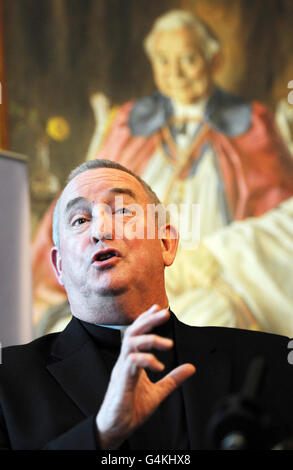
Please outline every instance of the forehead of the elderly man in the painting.
[{"label": "forehead of the elderly man in the painting", "polygon": [[199,49],[199,40],[195,31],[188,28],[170,31],[158,31],[154,37],[154,52],[164,50],[170,55],[180,49]]}]

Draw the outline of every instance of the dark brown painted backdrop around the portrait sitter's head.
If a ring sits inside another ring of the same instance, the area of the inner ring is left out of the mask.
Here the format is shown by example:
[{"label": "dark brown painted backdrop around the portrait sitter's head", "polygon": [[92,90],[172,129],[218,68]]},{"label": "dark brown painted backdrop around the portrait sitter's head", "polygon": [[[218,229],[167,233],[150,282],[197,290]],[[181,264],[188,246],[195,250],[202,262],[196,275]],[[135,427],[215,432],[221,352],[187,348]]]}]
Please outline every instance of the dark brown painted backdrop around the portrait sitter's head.
[{"label": "dark brown painted backdrop around the portrait sitter's head", "polygon": [[179,7],[206,21],[224,53],[217,82],[229,91],[275,111],[293,79],[290,0],[0,3],[1,146],[29,156],[32,234],[85,159],[95,126],[90,96],[119,105],[154,90],[142,41],[160,14]]}]

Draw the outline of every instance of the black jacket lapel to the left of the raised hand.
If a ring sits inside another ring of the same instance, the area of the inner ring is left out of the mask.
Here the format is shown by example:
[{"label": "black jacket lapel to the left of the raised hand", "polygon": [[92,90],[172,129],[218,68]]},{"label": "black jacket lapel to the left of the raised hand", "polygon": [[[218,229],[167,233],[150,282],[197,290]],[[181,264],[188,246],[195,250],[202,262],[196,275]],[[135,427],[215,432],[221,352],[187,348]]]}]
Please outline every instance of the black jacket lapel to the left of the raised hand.
[{"label": "black jacket lapel to the left of the raised hand", "polygon": [[96,413],[109,374],[94,342],[76,318],[58,336],[52,356],[58,360],[49,364],[47,370],[86,416]]}]

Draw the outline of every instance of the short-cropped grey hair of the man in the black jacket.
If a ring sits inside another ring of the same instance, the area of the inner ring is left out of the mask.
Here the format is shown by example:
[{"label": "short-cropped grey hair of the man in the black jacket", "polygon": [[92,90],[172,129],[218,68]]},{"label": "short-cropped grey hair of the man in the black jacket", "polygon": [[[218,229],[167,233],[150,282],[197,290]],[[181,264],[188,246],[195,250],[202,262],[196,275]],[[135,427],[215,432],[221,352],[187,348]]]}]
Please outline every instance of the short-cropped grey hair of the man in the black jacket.
[{"label": "short-cropped grey hair of the man in the black jacket", "polygon": [[[129,170],[123,165],[120,165],[119,163],[113,162],[111,160],[105,160],[102,158],[97,158],[95,160],[89,160],[87,162],[82,163],[81,165],[77,166],[72,172],[69,174],[69,177],[67,178],[66,185],[72,181],[77,175],[80,175],[81,173],[84,173],[85,171],[88,170],[94,170],[96,168],[111,168],[115,170],[120,170],[124,171],[125,173],[128,173],[129,175],[133,176],[143,187],[145,190],[146,194],[148,195],[150,202],[156,205],[161,204],[160,199],[156,195],[156,193],[152,190],[152,188],[143,180],[141,179],[138,175],[133,173],[133,171]],[[60,200],[63,192],[59,196],[54,212],[53,212],[53,225],[52,225],[52,238],[54,245],[57,246],[58,248],[60,247],[60,238],[59,238],[59,217],[60,217]]]}]

